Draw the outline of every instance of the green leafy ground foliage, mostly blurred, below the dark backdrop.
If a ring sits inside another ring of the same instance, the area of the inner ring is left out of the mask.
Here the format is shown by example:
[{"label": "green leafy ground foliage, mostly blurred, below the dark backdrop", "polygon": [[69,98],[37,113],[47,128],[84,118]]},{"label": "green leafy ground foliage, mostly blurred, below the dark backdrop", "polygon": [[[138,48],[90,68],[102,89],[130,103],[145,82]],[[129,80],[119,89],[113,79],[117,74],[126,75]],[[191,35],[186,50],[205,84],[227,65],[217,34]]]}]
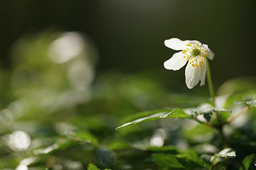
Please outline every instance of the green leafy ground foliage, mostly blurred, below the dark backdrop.
[{"label": "green leafy ground foliage, mostly blurred, below the dark backdrop", "polygon": [[[83,49],[61,58],[50,49],[67,35]],[[77,32],[45,31],[13,45],[0,77],[0,169],[255,167],[254,81],[227,81],[218,90],[223,107],[212,107],[204,89],[170,88],[158,69],[96,74],[93,49]],[[243,107],[244,119],[227,122]]]}]

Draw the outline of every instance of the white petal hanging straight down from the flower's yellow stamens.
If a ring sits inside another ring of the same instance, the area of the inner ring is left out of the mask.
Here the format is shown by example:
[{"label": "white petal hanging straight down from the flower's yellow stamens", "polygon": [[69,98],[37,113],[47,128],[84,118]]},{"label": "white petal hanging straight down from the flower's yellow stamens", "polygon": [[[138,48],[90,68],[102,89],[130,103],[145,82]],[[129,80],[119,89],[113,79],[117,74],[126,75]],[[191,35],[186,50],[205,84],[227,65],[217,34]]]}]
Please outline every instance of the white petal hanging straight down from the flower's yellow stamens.
[{"label": "white petal hanging straight down from the flower's yellow stamens", "polygon": [[186,85],[188,89],[192,89],[199,83],[200,80],[200,71],[202,68],[200,67],[193,67],[191,64],[188,64],[185,69],[185,76],[186,76]]}]

